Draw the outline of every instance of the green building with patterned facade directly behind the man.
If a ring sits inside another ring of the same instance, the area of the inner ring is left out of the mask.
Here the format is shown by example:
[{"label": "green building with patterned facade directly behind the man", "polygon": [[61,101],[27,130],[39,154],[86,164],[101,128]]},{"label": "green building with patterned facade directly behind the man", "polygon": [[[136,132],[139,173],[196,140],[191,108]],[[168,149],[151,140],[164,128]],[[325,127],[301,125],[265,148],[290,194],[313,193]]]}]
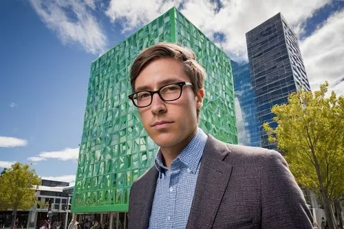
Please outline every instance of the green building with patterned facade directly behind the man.
[{"label": "green building with patterned facade directly behind the man", "polygon": [[131,63],[162,41],[191,48],[206,69],[200,127],[237,143],[230,59],[171,8],[92,63],[72,212],[126,211],[131,184],[153,165],[158,146],[127,96]]}]

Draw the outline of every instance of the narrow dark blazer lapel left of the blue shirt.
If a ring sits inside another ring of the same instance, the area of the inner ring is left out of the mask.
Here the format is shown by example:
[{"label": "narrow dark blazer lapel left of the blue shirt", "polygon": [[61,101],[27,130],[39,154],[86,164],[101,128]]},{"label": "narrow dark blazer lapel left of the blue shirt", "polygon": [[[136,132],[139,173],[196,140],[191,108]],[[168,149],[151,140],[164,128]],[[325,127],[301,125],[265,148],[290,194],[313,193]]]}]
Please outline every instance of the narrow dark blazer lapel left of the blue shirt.
[{"label": "narrow dark blazer lapel left of the blue shirt", "polygon": [[158,175],[158,170],[153,166],[147,174],[142,177],[141,184],[144,184],[144,186],[142,187],[141,200],[144,204],[142,204],[142,212],[138,212],[141,215],[140,228],[148,228]]}]

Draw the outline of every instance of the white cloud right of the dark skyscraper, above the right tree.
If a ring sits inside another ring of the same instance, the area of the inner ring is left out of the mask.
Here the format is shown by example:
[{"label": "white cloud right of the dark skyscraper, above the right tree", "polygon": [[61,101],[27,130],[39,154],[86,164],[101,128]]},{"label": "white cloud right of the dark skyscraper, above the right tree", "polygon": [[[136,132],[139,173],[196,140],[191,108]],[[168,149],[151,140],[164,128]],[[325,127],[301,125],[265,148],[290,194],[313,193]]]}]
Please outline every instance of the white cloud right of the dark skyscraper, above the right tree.
[{"label": "white cloud right of the dark skyscraper, above the right tree", "polygon": [[301,42],[300,49],[312,90],[327,80],[330,91],[344,95],[344,10],[338,11]]}]

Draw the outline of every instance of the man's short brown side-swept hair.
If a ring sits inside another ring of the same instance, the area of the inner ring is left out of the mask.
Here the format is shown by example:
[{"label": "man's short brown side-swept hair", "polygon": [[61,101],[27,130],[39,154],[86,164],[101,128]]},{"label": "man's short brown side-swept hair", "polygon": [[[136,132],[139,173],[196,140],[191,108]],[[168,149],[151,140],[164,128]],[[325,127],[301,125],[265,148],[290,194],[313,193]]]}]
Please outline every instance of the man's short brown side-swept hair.
[{"label": "man's short brown side-swept hair", "polygon": [[131,89],[135,92],[135,80],[144,67],[152,61],[159,58],[173,58],[184,65],[184,72],[189,76],[193,84],[193,91],[197,94],[203,88],[204,78],[206,76],[203,67],[195,61],[193,51],[173,43],[158,43],[143,50],[131,66],[130,84]]}]

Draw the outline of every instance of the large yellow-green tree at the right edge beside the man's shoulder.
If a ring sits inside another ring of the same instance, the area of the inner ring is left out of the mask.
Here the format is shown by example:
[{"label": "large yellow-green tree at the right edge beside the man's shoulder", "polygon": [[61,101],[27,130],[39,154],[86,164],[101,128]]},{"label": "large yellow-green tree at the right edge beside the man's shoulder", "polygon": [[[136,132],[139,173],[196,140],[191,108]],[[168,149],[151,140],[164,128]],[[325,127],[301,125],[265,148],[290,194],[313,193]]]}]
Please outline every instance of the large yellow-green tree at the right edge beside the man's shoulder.
[{"label": "large yellow-green tree at the right edge beside the man's shoulder", "polygon": [[325,97],[328,83],[319,91],[290,94],[288,104],[275,105],[277,127],[264,123],[269,141],[285,152],[297,182],[323,199],[325,215],[334,228],[332,201],[344,194],[344,98]]}]

